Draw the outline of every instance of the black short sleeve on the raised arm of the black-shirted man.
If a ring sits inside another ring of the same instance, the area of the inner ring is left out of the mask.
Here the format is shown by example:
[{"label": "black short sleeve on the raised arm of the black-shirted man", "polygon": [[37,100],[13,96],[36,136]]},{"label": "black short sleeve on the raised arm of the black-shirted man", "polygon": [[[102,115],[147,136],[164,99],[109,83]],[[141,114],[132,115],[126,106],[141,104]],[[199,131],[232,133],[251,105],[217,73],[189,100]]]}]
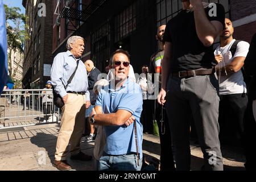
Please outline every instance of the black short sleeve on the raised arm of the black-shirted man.
[{"label": "black short sleeve on the raised arm of the black-shirted man", "polygon": [[224,7],[219,4],[219,3],[215,3],[216,4],[216,11],[214,10],[214,6],[210,6],[208,8],[208,19],[209,21],[218,21],[221,22],[223,28],[225,28],[225,9]]}]

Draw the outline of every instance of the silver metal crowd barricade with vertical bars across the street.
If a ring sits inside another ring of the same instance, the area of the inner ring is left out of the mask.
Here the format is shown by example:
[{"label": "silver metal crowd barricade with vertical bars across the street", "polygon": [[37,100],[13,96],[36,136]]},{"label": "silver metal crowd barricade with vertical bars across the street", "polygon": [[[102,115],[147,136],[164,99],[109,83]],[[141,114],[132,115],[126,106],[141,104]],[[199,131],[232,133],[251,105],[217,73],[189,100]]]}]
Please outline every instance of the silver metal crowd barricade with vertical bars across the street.
[{"label": "silver metal crowd barricade with vertical bars across the street", "polygon": [[61,110],[53,104],[52,89],[3,90],[0,129],[59,122]]}]

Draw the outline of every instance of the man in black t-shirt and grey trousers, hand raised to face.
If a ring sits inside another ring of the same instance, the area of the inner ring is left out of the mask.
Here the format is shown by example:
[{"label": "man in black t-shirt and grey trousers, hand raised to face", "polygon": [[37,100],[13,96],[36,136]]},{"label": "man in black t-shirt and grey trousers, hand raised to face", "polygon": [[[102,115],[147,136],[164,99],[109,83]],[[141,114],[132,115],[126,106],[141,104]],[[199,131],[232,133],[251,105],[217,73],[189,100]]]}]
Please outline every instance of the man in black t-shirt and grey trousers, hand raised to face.
[{"label": "man in black t-shirt and grey trousers, hand raised to face", "polygon": [[[164,33],[162,88],[158,102],[166,102],[176,169],[190,169],[189,121],[195,121],[204,169],[223,170],[218,139],[218,81],[213,42],[224,28],[224,7],[201,0],[181,0],[183,10]],[[166,98],[166,94],[168,98]]]}]

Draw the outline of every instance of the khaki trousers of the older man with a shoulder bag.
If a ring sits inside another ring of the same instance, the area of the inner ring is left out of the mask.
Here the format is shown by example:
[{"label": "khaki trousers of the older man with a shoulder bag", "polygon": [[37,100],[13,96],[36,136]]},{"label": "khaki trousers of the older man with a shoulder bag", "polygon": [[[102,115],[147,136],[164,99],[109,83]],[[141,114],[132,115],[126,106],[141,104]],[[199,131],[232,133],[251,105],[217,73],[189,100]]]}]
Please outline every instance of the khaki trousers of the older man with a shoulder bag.
[{"label": "khaki trousers of the older man with a shoulder bag", "polygon": [[80,139],[85,127],[85,95],[68,93],[67,103],[61,108],[63,116],[57,138],[55,160],[66,160],[68,144],[71,155],[80,152]]}]

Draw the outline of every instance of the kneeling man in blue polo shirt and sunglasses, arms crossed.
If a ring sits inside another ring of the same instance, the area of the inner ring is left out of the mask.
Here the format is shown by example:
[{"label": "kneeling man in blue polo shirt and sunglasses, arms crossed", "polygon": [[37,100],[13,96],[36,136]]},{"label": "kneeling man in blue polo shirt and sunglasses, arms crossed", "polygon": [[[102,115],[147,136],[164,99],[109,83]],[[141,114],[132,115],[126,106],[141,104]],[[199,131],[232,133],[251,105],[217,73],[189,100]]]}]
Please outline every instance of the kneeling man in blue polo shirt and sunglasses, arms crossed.
[{"label": "kneeling man in blue polo shirt and sunglasses, arms crossed", "polygon": [[100,91],[95,111],[90,117],[93,125],[104,126],[106,144],[100,158],[99,170],[139,171],[142,166],[142,93],[138,84],[128,77],[129,54],[118,49],[110,65],[115,80]]}]

